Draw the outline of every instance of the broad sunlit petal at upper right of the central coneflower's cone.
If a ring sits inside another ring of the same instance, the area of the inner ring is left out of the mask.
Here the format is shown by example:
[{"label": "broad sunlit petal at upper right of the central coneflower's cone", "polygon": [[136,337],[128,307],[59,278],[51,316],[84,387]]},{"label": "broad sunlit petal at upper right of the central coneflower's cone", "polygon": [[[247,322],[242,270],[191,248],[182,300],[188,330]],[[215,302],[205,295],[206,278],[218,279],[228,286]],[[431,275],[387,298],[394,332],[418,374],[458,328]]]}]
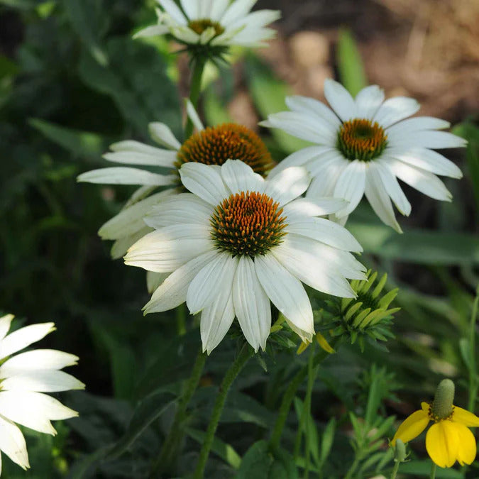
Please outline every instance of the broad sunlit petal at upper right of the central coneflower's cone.
[{"label": "broad sunlit petal at upper right of the central coneflower's cone", "polygon": [[310,181],[306,168],[292,166],[265,182],[265,194],[283,206],[303,194]]}]

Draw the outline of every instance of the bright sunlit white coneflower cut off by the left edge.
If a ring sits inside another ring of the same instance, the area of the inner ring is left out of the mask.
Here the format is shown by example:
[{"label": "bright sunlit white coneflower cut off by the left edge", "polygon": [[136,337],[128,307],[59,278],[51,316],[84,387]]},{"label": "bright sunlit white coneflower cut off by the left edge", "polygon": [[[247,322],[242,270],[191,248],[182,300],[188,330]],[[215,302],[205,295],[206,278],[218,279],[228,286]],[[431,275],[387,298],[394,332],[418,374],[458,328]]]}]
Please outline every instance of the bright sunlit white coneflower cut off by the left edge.
[{"label": "bright sunlit white coneflower cut off by the left edge", "polygon": [[0,318],[0,451],[26,469],[26,443],[16,424],[55,435],[50,421],[78,414],[43,393],[84,389],[84,384],[60,371],[77,364],[77,356],[53,349],[18,353],[54,331],[53,323],[32,324],[7,335],[12,319],[12,314]]}]

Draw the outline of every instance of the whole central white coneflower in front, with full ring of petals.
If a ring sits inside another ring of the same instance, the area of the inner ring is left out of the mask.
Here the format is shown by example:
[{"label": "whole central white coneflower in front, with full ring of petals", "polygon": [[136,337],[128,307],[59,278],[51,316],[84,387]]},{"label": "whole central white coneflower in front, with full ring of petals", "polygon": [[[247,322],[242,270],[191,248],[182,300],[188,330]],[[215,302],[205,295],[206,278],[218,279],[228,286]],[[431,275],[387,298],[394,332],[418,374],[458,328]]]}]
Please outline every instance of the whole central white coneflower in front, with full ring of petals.
[{"label": "whole central white coneflower in front, with full ring of petals", "polygon": [[361,246],[342,226],[317,216],[344,207],[341,199],[298,198],[309,185],[303,167],[265,180],[245,163],[221,167],[186,163],[190,193],[165,199],[145,221],[155,231],[125,257],[127,265],[171,274],[145,305],[163,312],[186,301],[202,312],[204,351],[224,338],[235,316],[255,351],[270,333],[270,301],[303,339],[314,334],[302,282],[340,297],[354,297],[346,278],[364,278],[350,251]]}]

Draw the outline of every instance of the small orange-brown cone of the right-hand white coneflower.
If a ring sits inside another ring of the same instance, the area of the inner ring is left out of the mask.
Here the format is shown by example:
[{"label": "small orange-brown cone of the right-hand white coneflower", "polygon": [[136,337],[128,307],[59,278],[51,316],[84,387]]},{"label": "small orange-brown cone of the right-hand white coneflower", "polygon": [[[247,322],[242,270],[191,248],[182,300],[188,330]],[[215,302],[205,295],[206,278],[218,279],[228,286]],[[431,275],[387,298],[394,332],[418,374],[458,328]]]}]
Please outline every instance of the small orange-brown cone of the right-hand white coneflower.
[{"label": "small orange-brown cone of the right-hand white coneflower", "polygon": [[370,161],[382,153],[387,136],[378,122],[365,119],[345,121],[338,133],[338,148],[348,160]]}]

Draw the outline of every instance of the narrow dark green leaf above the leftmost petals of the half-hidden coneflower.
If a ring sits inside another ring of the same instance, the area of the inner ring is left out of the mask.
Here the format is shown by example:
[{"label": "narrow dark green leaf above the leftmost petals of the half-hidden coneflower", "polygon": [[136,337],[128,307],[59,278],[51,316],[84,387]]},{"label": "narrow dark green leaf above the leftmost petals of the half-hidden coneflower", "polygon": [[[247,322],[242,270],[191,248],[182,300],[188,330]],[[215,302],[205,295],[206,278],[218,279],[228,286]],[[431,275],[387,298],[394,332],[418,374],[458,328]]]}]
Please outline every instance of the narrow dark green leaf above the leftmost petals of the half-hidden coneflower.
[{"label": "narrow dark green leaf above the leftmost petals of the half-hidden coneflower", "polygon": [[28,119],[28,124],[46,138],[70,151],[75,157],[98,159],[108,144],[97,133],[72,130],[40,119]]}]

